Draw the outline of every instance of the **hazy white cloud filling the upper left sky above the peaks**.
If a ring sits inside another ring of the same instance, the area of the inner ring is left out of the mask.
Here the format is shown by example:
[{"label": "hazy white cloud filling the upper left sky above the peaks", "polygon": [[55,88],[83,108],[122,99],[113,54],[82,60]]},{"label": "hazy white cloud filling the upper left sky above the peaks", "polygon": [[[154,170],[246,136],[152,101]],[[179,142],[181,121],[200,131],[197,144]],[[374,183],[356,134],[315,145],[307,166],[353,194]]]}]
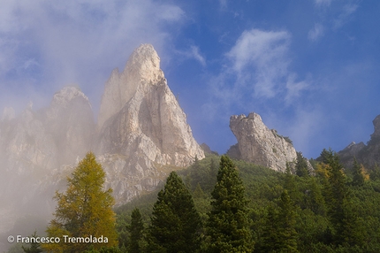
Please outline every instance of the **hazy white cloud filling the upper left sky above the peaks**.
[{"label": "hazy white cloud filling the upper left sky above the peaks", "polygon": [[[5,1],[0,8],[0,89],[22,93],[11,85],[19,79],[51,96],[77,82],[88,96],[100,97],[111,69],[124,67],[141,43],[170,55],[171,27],[181,26],[185,18],[179,6],[153,0]],[[18,73],[36,66],[40,73]]]}]

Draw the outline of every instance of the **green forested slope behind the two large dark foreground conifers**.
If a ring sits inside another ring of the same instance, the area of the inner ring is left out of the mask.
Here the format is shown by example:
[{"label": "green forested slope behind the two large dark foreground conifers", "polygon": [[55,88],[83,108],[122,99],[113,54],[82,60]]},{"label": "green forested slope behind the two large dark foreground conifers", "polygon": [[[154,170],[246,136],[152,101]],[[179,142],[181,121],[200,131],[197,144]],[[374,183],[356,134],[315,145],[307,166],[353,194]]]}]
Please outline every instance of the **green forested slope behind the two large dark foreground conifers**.
[{"label": "green forested slope behind the two large dark foreground conifers", "polygon": [[[178,172],[193,195],[204,227],[219,162],[220,157],[209,155]],[[233,161],[246,189],[254,252],[379,252],[378,168],[366,170],[357,163],[353,168],[343,168],[337,154],[325,149],[321,161],[311,161],[314,175],[305,173],[303,162],[299,157],[293,172],[287,168],[286,173],[278,173]],[[141,211],[146,231],[156,196],[157,192],[141,196],[118,208],[121,248],[129,243],[133,209]]]}]

